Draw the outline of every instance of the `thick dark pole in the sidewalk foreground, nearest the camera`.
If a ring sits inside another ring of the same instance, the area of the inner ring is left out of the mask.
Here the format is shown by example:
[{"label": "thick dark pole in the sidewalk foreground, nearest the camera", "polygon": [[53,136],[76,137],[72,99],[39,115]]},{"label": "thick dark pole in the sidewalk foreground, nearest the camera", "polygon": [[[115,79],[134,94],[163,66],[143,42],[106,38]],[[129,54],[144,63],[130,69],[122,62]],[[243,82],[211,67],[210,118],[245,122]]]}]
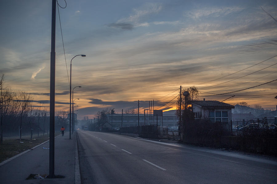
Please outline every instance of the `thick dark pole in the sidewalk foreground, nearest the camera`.
[{"label": "thick dark pole in the sidewalk foreground, nearest the camera", "polygon": [[55,40],[56,40],[56,0],[52,0],[51,56],[50,56],[50,135],[49,135],[49,178],[54,178],[55,149]]}]

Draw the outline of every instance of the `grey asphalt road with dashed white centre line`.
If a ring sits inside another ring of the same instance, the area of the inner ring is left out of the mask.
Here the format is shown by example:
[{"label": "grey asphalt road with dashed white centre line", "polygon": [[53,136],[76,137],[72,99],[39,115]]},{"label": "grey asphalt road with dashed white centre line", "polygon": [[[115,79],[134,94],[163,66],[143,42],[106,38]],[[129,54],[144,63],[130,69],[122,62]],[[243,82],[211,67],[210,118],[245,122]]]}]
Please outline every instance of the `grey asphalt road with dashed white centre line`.
[{"label": "grey asphalt road with dashed white centre line", "polygon": [[78,131],[82,183],[277,183],[277,162],[207,148]]}]

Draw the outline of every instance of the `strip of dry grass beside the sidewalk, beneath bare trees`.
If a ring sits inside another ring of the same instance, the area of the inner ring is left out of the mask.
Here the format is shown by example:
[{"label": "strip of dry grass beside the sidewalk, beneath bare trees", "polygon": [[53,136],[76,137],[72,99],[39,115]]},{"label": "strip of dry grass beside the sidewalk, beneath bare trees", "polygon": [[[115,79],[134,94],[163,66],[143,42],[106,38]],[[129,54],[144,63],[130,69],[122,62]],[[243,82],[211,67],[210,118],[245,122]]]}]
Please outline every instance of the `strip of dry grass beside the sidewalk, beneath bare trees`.
[{"label": "strip of dry grass beside the sidewalk, beneath bare trees", "polygon": [[[61,133],[55,133],[55,136],[59,134]],[[46,140],[49,140],[49,135],[33,136],[33,139],[30,139],[30,136],[23,136],[21,140],[18,137],[3,138],[3,144],[0,144],[0,163]]]}]

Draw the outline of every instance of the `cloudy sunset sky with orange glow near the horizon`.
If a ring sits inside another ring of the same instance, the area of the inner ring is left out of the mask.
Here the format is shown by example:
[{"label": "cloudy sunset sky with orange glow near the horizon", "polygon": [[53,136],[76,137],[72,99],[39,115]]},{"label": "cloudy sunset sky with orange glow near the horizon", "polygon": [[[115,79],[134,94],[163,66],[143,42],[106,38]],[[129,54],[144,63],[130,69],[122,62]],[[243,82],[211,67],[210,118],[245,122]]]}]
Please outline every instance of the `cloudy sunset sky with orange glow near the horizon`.
[{"label": "cloudy sunset sky with orange glow near the horizon", "polygon": [[[73,97],[78,119],[137,108],[138,100],[141,113],[151,100],[155,109],[176,109],[180,86],[198,87],[199,100],[235,95],[224,102],[276,110],[274,0],[66,0],[62,35],[56,14],[56,112],[69,110],[70,60],[79,54],[86,57],[72,60],[71,74],[72,88],[82,86]],[[5,85],[49,107],[51,1],[1,1],[0,16]]]}]

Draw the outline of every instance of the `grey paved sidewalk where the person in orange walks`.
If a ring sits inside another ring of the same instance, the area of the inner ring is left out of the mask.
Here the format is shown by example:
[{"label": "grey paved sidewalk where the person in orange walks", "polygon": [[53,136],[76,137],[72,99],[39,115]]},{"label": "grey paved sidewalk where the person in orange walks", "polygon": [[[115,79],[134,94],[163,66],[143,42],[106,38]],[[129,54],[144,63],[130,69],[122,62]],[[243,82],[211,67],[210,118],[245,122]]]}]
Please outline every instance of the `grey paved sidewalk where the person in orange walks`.
[{"label": "grey paved sidewalk where the person in orange walks", "polygon": [[[64,178],[30,179],[30,174],[49,174],[49,141],[39,145],[8,163],[0,166],[0,183],[80,183],[77,142],[74,132],[69,139],[69,132],[55,137],[55,175]],[[76,155],[75,155],[76,154]],[[75,157],[77,158],[75,160]],[[77,164],[75,164],[75,161]],[[76,173],[75,173],[76,165]],[[76,174],[76,178],[75,178]]]}]

